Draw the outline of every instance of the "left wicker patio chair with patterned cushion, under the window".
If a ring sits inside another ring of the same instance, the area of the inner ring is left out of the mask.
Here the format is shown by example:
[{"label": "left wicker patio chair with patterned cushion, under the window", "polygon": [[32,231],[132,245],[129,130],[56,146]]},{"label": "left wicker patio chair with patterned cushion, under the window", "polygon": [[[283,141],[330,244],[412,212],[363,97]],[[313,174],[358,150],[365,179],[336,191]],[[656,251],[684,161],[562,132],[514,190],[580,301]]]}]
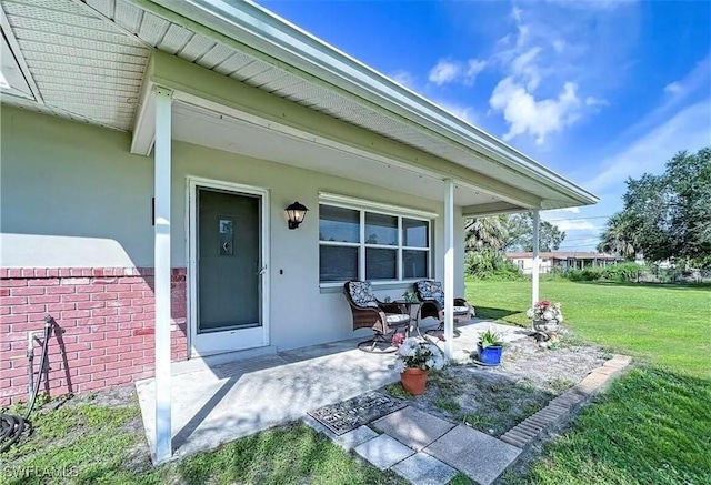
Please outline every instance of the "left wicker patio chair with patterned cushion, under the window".
[{"label": "left wicker patio chair with patterned cushion, under the window", "polygon": [[370,282],[349,281],[344,284],[343,293],[353,314],[353,331],[365,327],[373,330],[372,339],[360,342],[358,348],[372,353],[394,352],[392,335],[398,330],[408,333],[410,315],[394,303],[379,301]]}]

